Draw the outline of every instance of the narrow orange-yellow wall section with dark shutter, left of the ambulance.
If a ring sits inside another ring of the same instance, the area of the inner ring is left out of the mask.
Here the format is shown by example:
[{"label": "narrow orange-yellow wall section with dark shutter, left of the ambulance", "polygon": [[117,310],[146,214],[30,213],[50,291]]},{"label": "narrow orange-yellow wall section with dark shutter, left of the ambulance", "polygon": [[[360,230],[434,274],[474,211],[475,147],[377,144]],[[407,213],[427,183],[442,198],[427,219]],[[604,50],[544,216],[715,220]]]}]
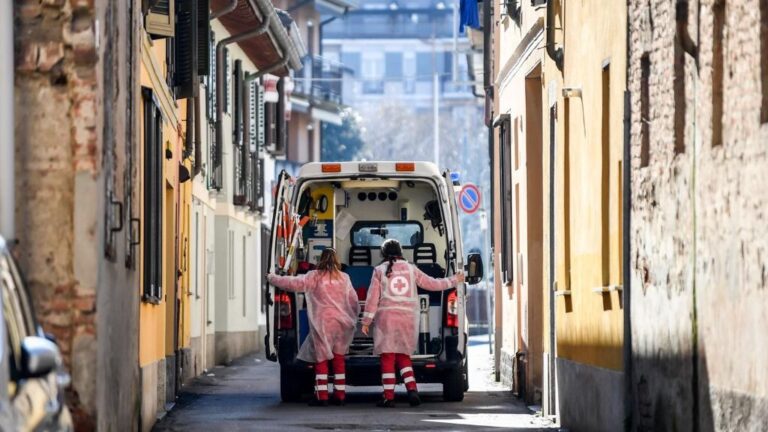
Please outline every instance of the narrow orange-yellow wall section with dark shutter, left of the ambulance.
[{"label": "narrow orange-yellow wall section with dark shutter, left of the ambulance", "polygon": [[[163,152],[166,149],[171,150],[172,157],[165,158],[165,154],[156,155],[163,158],[164,161],[164,179],[165,189],[163,191],[163,298],[159,304],[141,302],[139,306],[139,366],[143,367],[165,358],[167,354],[172,354],[177,348],[189,346],[190,325],[189,325],[189,209],[191,204],[191,181],[179,184],[178,173],[179,165],[184,146],[185,128],[181,119],[184,118],[186,103],[185,101],[176,101],[165,82],[166,68],[165,64],[165,40],[158,39],[150,41],[147,34],[142,35],[141,44],[141,71],[140,88],[137,89],[136,100],[141,101],[141,87],[151,88],[157,99],[161,112],[163,114]],[[143,106],[139,107],[139,116],[143,118]],[[143,142],[143,122],[140,124],[140,139],[137,141],[137,154],[140,166],[139,190],[142,196],[141,203],[144,202],[143,193],[143,173],[144,173],[144,142]],[[190,169],[189,161],[184,162]],[[139,214],[143,218],[144,210],[141,208]],[[175,238],[176,224],[179,224],[178,239]],[[145,225],[142,221],[142,227]],[[171,244],[177,242],[176,244]],[[175,250],[174,250],[175,249]],[[139,266],[140,278],[138,286],[138,295],[143,292],[143,246],[137,248],[137,263]],[[178,251],[178,263],[175,253]],[[178,267],[177,267],[178,265]],[[179,277],[178,292],[174,292],[173,281],[177,270],[182,272]],[[171,285],[169,286],[169,281]],[[179,308],[179,346],[174,347],[173,331],[174,325],[172,314],[168,309],[169,301],[174,297],[178,298]],[[171,327],[169,327],[171,326]]]}]

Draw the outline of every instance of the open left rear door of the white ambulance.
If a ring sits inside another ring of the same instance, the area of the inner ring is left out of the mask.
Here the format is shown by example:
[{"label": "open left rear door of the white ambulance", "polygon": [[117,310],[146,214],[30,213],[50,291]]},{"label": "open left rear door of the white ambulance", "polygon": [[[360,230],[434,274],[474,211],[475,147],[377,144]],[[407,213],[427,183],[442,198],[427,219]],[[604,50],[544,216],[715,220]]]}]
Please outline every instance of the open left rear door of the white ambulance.
[{"label": "open left rear door of the white ambulance", "polygon": [[290,203],[291,192],[293,190],[293,179],[285,171],[281,171],[277,176],[277,188],[273,196],[272,202],[272,236],[269,242],[269,254],[267,255],[267,268],[264,269],[264,283],[266,289],[264,290],[264,302],[267,305],[267,334],[264,337],[264,347],[266,350],[266,357],[268,360],[277,361],[277,305],[275,304],[275,287],[266,281],[267,274],[279,273],[277,271],[280,254],[284,253],[278,247],[278,224],[280,221],[280,214],[283,209],[283,203]]}]

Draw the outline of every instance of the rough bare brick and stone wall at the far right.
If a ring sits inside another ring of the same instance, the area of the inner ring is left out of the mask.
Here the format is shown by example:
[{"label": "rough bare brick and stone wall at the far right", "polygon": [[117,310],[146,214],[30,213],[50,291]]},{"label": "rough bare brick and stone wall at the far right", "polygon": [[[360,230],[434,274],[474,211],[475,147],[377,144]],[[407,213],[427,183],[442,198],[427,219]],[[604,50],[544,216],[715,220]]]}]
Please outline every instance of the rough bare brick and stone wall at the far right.
[{"label": "rough bare brick and stone wall at the far right", "polygon": [[630,1],[636,430],[760,430],[768,414],[760,4],[692,1],[678,30],[675,2]]}]

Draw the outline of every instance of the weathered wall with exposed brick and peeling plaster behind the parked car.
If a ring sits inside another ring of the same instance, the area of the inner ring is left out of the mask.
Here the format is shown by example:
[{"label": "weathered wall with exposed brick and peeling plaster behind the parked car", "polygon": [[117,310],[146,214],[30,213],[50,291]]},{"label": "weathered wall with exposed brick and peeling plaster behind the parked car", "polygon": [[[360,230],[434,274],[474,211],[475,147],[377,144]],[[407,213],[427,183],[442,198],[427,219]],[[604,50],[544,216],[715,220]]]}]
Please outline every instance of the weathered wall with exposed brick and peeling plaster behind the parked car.
[{"label": "weathered wall with exposed brick and peeling plaster behind the parked car", "polygon": [[[119,162],[105,155],[122,148],[128,128],[125,118],[105,116],[104,106],[111,114],[128,112],[124,89],[130,88],[125,76],[118,80],[110,69],[129,53],[117,51],[103,61],[104,48],[117,48],[110,44],[120,34],[105,22],[114,15],[125,19],[120,24],[130,22],[125,4],[110,3],[15,2],[16,252],[40,322],[56,337],[72,375],[67,402],[80,430],[95,429],[100,410],[105,414],[99,424],[130,426],[137,397],[135,343],[126,342],[135,339],[136,315],[126,307],[131,271],[118,257],[106,256],[104,242],[105,219],[112,217],[105,174],[115,174],[104,162]],[[105,84],[119,96],[106,99]],[[105,143],[108,127],[123,135]],[[115,272],[123,277],[113,278]],[[101,323],[109,325],[97,339]],[[122,343],[112,347],[110,341]]]}]

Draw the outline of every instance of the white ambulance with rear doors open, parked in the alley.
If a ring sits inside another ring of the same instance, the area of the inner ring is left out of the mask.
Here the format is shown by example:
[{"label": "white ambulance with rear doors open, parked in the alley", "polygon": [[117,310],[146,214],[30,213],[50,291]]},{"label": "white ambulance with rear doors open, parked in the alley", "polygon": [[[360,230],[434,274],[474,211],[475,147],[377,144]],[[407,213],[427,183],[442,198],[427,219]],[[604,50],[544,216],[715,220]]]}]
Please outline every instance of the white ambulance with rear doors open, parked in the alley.
[{"label": "white ambulance with rear doors open, parked in the alley", "polygon": [[[457,186],[450,172],[428,162],[308,163],[295,178],[282,172],[274,193],[268,269],[305,273],[323,249],[333,247],[362,314],[373,268],[382,262],[379,247],[395,238],[404,257],[426,274],[446,277],[464,269],[466,284],[476,284],[483,263],[479,254],[464,256]],[[296,359],[309,334],[304,294],[265,285],[266,356],[280,364],[282,400],[299,401],[314,385],[313,365]],[[418,383],[442,384],[446,401],[463,400],[469,386],[466,292],[464,284],[443,292],[419,289],[413,369]],[[373,339],[359,323],[346,363],[347,385],[381,385]]]}]

